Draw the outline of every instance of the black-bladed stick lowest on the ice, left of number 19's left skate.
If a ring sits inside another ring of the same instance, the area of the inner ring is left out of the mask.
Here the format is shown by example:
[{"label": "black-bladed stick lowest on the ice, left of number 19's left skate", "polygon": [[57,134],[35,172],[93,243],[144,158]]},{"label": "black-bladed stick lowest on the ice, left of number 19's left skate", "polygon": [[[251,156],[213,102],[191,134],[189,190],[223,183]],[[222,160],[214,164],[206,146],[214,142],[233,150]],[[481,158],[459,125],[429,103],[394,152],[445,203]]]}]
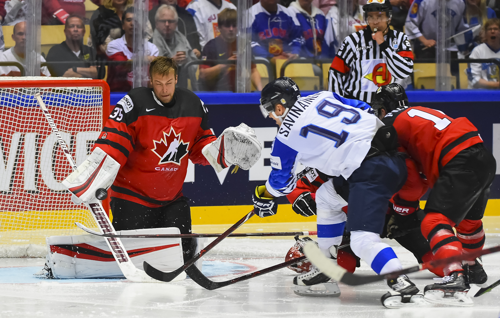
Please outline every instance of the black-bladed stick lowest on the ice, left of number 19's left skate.
[{"label": "black-bladed stick lowest on the ice, left of number 19's left skate", "polygon": [[290,266],[290,265],[296,264],[298,262],[301,262],[301,261],[303,261],[305,259],[307,259],[306,256],[300,256],[299,258],[295,258],[295,259],[289,260],[287,262],[276,264],[274,266],[271,266],[271,267],[268,267],[268,268],[264,268],[262,270],[259,270],[259,271],[253,272],[253,273],[249,273],[249,274],[246,274],[246,275],[241,276],[241,277],[236,277],[236,278],[233,278],[231,280],[224,281],[224,282],[214,282],[214,281],[209,280],[194,265],[190,266],[186,270],[186,272],[187,272],[187,275],[189,275],[189,278],[191,278],[196,284],[198,284],[199,286],[203,287],[204,289],[207,289],[207,290],[211,291],[211,290],[214,290],[214,289],[218,289],[218,288],[221,288],[221,287],[232,285],[232,284],[235,284],[237,282],[246,281],[246,280],[249,280],[250,278],[254,278],[254,277],[257,277],[257,276],[260,276],[260,275],[264,275],[264,274],[267,274],[267,273],[270,273],[270,272],[273,272],[273,271],[285,268],[287,266]]}]

